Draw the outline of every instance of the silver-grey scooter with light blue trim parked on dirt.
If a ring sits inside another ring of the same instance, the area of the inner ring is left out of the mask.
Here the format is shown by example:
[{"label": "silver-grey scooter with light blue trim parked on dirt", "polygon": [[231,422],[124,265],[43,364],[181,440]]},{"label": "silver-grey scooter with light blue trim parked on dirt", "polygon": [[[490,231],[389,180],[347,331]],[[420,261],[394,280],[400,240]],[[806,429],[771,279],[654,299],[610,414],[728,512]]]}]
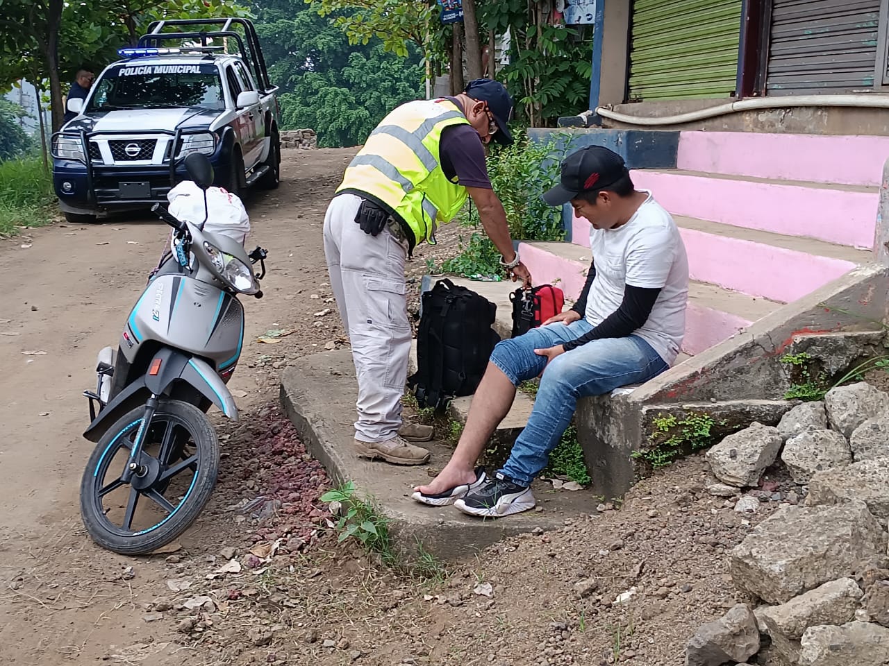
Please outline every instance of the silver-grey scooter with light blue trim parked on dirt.
[{"label": "silver-grey scooter with light blue trim parked on dirt", "polygon": [[[244,343],[238,294],[260,298],[266,250],[204,230],[212,164],[185,159],[203,190],[204,222],[151,209],[172,226],[169,256],[127,317],[117,350],[99,353],[95,392],[86,391],[97,443],[80,486],[84,527],[102,548],[156,551],[181,535],[210,499],[220,445],[207,411],[236,421],[228,391]],[[252,266],[260,263],[260,274]]]}]

